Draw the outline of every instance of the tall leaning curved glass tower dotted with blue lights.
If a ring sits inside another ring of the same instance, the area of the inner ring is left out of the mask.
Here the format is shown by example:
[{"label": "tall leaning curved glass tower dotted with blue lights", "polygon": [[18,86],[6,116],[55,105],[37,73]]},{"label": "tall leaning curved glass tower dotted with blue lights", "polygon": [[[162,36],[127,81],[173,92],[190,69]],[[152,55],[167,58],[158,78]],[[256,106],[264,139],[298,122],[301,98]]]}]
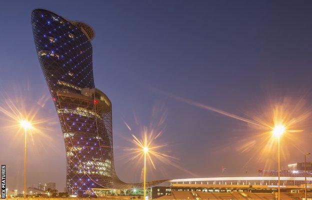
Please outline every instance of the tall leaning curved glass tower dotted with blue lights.
[{"label": "tall leaning curved glass tower dotted with blue lights", "polygon": [[[38,59],[64,137],[66,188],[69,193],[91,188],[132,188],[113,164],[111,102],[96,89],[92,69],[94,30],[45,9],[31,13]],[[162,181],[148,182],[147,186]]]}]

